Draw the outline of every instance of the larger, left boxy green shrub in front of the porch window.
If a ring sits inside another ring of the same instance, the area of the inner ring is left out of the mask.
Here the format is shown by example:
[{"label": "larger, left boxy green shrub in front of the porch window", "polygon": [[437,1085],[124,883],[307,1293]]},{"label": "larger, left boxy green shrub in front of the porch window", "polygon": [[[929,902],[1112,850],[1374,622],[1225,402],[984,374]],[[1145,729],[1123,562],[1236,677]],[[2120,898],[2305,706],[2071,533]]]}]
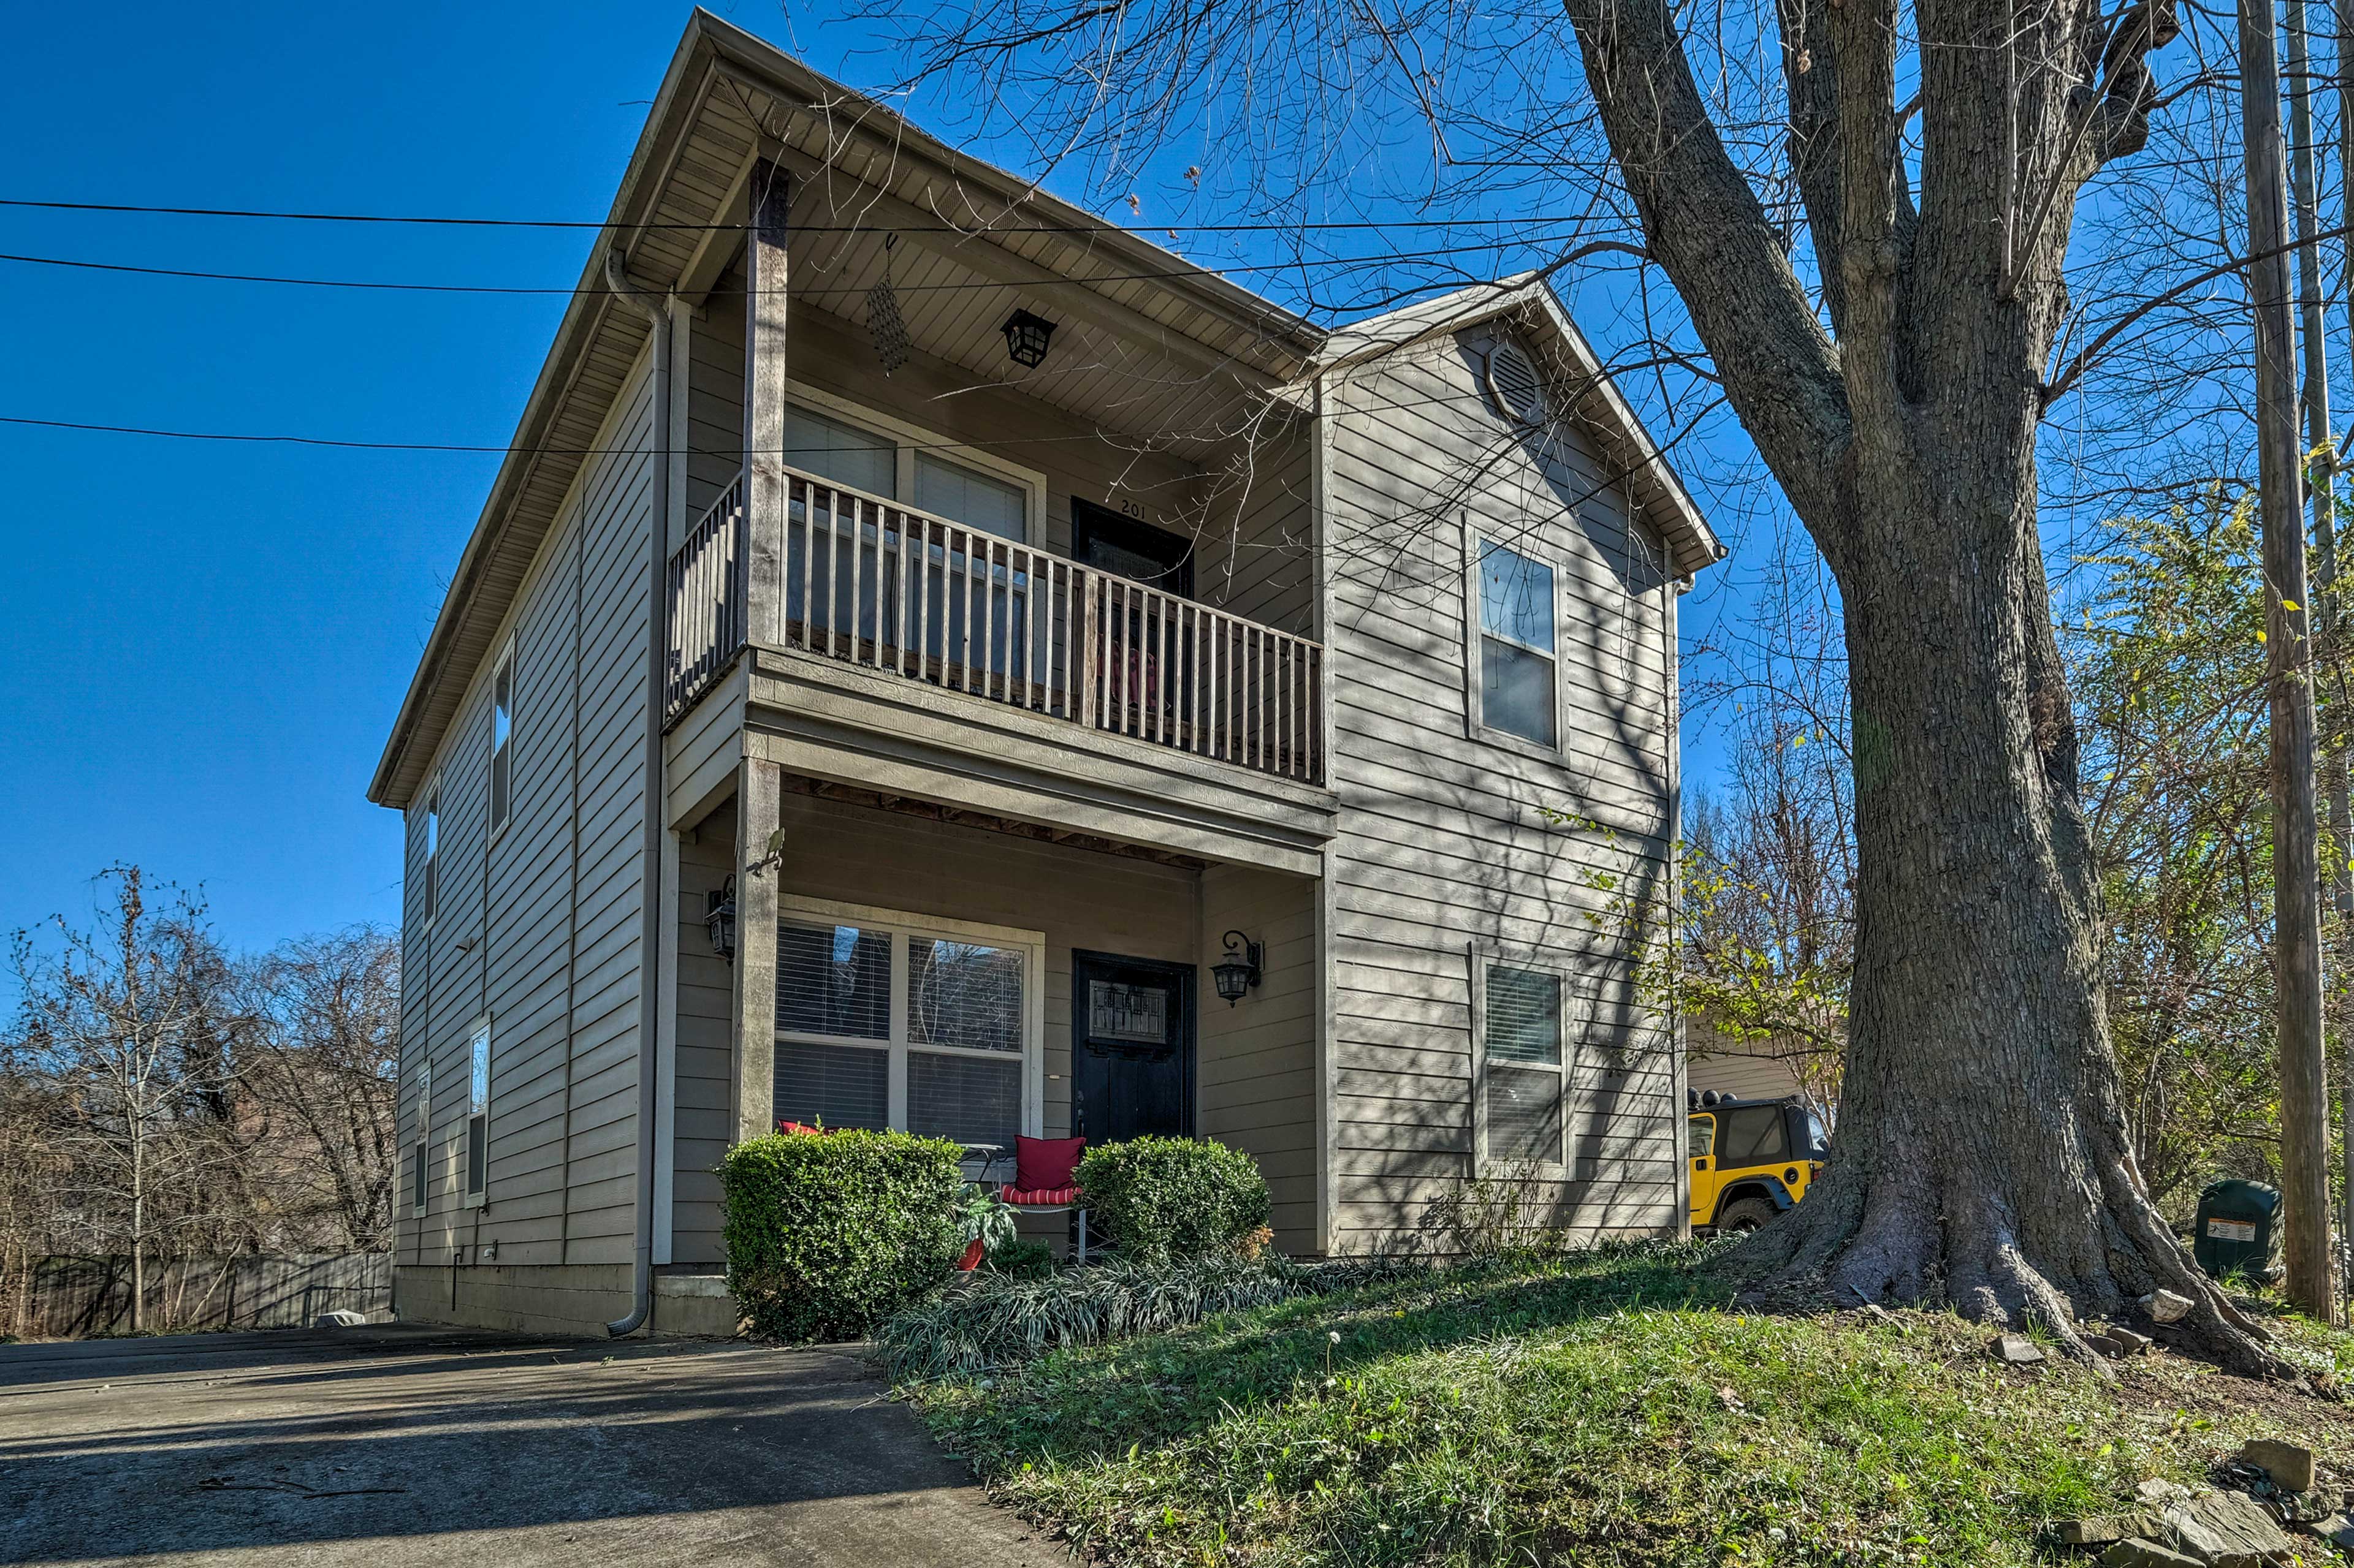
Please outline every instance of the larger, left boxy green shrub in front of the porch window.
[{"label": "larger, left boxy green shrub in front of the porch window", "polygon": [[756,1137],[720,1161],[727,1288],[756,1335],[855,1340],[956,1267],[963,1149],[911,1132]]}]

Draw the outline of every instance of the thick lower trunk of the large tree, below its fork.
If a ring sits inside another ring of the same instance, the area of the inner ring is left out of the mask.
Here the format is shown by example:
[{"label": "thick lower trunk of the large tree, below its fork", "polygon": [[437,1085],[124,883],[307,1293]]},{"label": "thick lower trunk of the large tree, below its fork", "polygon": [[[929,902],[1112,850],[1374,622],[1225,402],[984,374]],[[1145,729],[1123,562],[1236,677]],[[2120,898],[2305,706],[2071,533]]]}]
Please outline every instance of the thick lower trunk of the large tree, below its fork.
[{"label": "thick lower trunk of the large tree, below its fork", "polygon": [[1831,1170],[1744,1262],[2067,1340],[2168,1288],[2206,1304],[2220,1358],[2272,1370],[2135,1168],[2032,471],[2015,443],[1966,436],[1928,419],[1935,473],[1900,454],[1853,476],[1862,885],[1841,1125]]}]

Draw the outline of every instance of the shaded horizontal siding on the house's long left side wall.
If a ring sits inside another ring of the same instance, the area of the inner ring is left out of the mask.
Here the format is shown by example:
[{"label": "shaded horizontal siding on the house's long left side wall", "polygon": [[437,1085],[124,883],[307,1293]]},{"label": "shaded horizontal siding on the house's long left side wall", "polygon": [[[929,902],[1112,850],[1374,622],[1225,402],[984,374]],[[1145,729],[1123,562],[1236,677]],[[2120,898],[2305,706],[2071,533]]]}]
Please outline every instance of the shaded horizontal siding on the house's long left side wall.
[{"label": "shaded horizontal siding on the house's long left side wall", "polygon": [[[629,1262],[636,1215],[638,881],[645,808],[647,363],[584,464],[494,645],[516,640],[513,810],[487,833],[490,669],[438,758],[440,897],[421,921],[410,808],[403,1038],[433,1055],[431,1205],[400,1260]],[[574,737],[579,746],[574,749]],[[492,1019],[487,1203],[459,1208],[466,1036]],[[403,1052],[403,1085],[414,1055]],[[405,1147],[412,1144],[403,1123]],[[410,1172],[405,1170],[407,1180]]]}]

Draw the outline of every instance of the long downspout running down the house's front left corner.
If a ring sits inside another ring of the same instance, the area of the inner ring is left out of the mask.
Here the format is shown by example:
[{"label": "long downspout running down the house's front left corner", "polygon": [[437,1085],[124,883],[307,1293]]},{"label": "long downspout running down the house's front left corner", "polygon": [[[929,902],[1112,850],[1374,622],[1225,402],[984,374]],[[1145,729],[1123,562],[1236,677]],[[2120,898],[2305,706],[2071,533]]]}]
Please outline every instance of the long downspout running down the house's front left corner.
[{"label": "long downspout running down the house's front left corner", "polygon": [[671,558],[671,313],[629,280],[619,245],[605,252],[605,283],[654,327],[654,518],[647,527],[645,600],[645,923],[638,935],[638,1243],[631,1253],[631,1307],[605,1333],[636,1333],[654,1309],[654,1038],[661,1029],[661,695],[671,638],[664,622],[664,572]]}]

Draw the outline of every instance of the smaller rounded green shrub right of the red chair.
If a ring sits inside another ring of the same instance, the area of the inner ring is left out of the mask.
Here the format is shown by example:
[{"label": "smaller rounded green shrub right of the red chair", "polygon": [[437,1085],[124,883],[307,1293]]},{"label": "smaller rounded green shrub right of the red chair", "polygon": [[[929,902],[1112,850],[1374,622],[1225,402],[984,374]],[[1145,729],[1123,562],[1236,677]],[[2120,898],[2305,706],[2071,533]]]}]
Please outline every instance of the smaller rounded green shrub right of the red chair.
[{"label": "smaller rounded green shrub right of the red chair", "polygon": [[1130,1262],[1255,1255],[1264,1245],[1266,1177],[1241,1149],[1196,1137],[1097,1144],[1078,1161],[1090,1224]]}]

